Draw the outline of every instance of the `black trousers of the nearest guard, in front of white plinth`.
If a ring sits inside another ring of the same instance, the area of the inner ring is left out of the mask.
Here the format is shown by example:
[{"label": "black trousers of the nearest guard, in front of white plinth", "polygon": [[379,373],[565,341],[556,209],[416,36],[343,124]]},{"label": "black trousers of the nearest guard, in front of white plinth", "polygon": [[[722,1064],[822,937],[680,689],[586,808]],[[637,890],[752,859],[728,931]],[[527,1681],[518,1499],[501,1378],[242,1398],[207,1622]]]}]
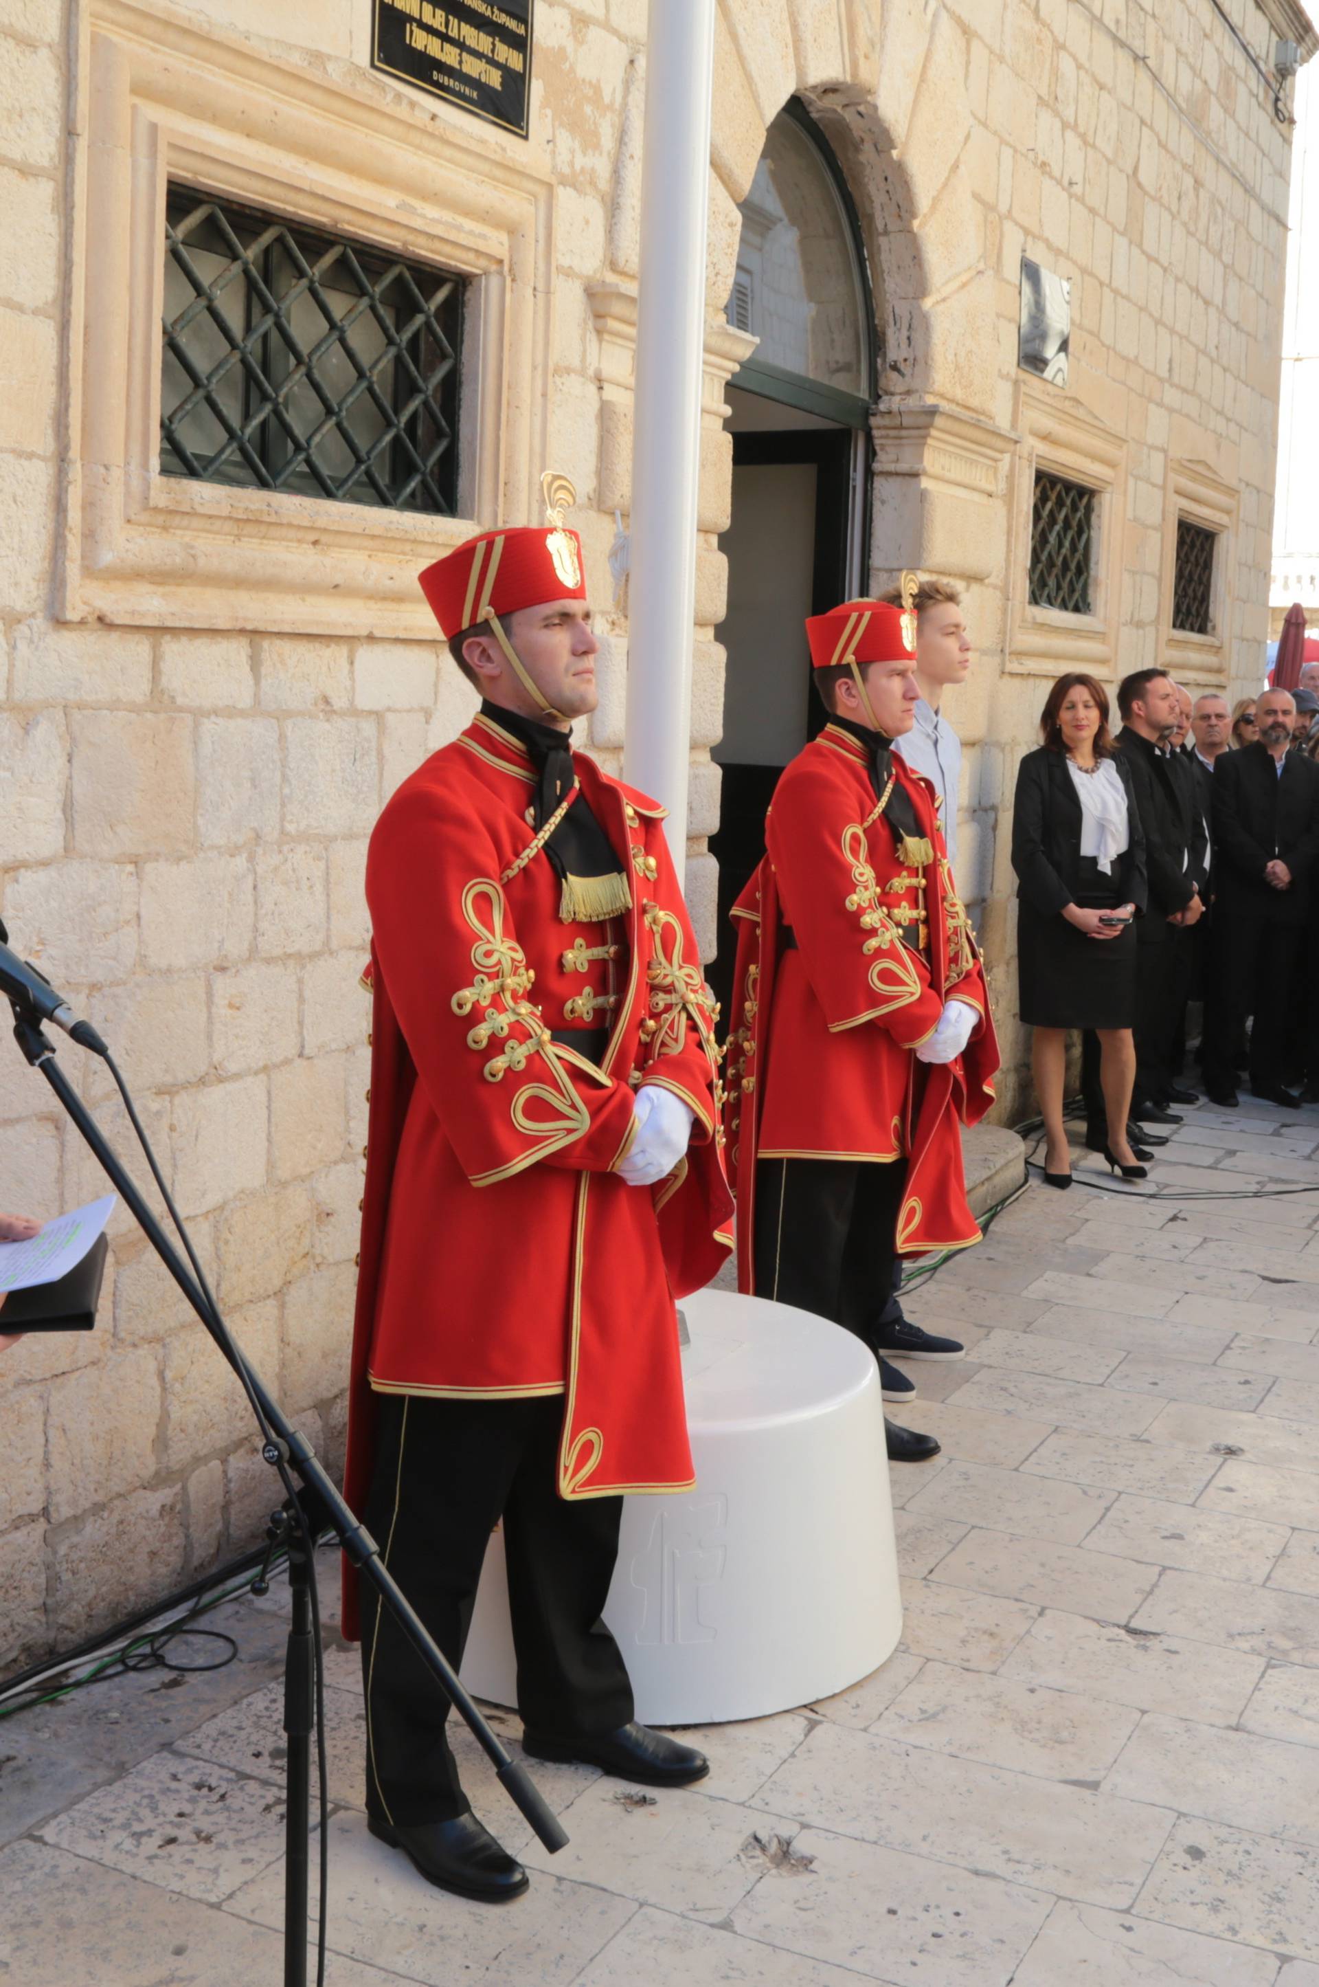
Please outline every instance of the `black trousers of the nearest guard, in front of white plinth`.
[{"label": "black trousers of the nearest guard, in front of white plinth", "polygon": [[[366,1524],[449,1661],[463,1659],[485,1548],[503,1516],[524,1725],[562,1735],[626,1725],[632,1685],[600,1621],[624,1500],[558,1496],[562,1395],[383,1395],[379,1411]],[[399,1826],[465,1814],[445,1739],[449,1699],[366,1582],[362,1594],[367,1808]]]}]

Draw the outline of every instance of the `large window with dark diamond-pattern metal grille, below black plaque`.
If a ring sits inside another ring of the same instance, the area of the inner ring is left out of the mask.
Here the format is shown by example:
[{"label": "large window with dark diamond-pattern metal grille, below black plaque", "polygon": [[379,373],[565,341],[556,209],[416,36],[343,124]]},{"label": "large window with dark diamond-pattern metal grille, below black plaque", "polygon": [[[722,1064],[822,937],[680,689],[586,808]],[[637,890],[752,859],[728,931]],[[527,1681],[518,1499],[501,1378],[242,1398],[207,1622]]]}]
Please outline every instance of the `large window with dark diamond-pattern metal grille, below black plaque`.
[{"label": "large window with dark diamond-pattern metal grille, below black plaque", "polygon": [[161,469],[453,517],[463,278],[171,187]]}]

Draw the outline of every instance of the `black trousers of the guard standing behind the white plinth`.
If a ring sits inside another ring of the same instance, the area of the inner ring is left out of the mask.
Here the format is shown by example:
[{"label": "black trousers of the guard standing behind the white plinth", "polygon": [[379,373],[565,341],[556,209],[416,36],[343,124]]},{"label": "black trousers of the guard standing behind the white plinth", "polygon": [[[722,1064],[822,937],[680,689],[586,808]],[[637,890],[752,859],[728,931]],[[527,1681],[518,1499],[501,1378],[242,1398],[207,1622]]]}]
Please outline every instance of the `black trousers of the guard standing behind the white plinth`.
[{"label": "black trousers of the guard standing behind the white plinth", "polygon": [[906,1160],[763,1158],[755,1168],[755,1292],[846,1325],[874,1351],[902,1317],[898,1214]]}]

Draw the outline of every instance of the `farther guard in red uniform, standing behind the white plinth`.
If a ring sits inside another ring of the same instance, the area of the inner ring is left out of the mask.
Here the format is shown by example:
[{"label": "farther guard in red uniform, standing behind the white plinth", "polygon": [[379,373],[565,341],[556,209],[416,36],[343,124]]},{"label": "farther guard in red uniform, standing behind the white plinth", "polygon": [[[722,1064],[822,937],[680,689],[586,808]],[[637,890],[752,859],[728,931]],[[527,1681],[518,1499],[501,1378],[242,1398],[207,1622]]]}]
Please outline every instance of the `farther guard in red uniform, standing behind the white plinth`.
[{"label": "farther guard in red uniform, standing behind the white plinth", "polygon": [[[910,602],[912,574],[904,588]],[[896,1296],[902,1256],[979,1240],[959,1125],[989,1109],[997,1069],[938,797],[890,749],[918,697],[916,614],[848,600],[806,634],[832,717],[785,769],[733,908],[739,1288],[846,1325],[876,1357],[961,1357]],[[894,1458],[938,1447],[888,1423]]]}]

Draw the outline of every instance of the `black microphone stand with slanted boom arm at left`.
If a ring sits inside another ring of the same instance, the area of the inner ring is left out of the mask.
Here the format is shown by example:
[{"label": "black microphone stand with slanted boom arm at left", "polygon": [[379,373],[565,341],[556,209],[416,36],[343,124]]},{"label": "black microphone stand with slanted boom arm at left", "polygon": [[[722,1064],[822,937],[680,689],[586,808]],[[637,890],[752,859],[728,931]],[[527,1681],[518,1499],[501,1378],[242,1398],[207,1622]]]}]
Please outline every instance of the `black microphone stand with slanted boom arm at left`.
[{"label": "black microphone stand with slanted boom arm at left", "polygon": [[[509,1758],[509,1753],[495,1737],[481,1711],[459,1683],[457,1673],[449,1665],[447,1657],[441,1653],[433,1637],[427,1633],[425,1623],[415,1613],[401,1588],[379,1560],[379,1546],[367,1532],[364,1524],[358,1522],[352,1508],[334,1484],[334,1478],[326,1472],[324,1464],[316,1456],[316,1451],[304,1435],[300,1435],[280,1409],[278,1401],[268,1393],[256,1369],[244,1359],[232,1339],[217,1327],[211,1305],[207,1303],[201,1288],[197,1286],[191,1270],[175,1250],[173,1242],[157,1222],[155,1214],[143,1200],[131,1174],[121,1164],[113,1146],[105,1139],[105,1133],[95,1123],[81,1097],[64,1075],[56,1061],[54,1043],[42,1033],[40,1021],[24,1013],[20,1003],[10,999],[14,1009],[14,1039],[22,1049],[26,1061],[32,1069],[40,1069],[52,1091],[68,1111],[70,1119],[89,1145],[91,1152],[109,1174],[111,1184],[123,1196],[129,1212],[135,1216],[139,1228],[151,1242],[175,1284],[193,1305],[203,1325],[207,1327],[217,1349],[228,1361],[228,1365],[246,1379],[248,1393],[254,1397],[260,1413],[264,1415],[266,1427],[272,1431],[272,1441],[264,1443],[262,1456],[274,1468],[286,1464],[298,1472],[304,1486],[304,1498],[298,1502],[308,1514],[308,1528],[312,1538],[318,1530],[326,1526],[338,1536],[342,1550],[348,1554],[350,1562],[356,1566],[358,1576],[367,1580],[381,1602],[387,1607],[411,1645],[421,1655],[423,1663],[435,1677],[435,1683],[445,1693],[451,1705],[457,1707],[463,1721],[471,1729],[473,1737],[479,1741],[489,1760],[495,1766],[501,1786],[522,1810],[530,1826],[534,1828],[540,1842],[554,1854],[554,1850],[564,1848],[568,1834],[558,1822],[558,1816],[546,1806],[544,1796],[536,1788],[534,1780],[516,1760]],[[304,1502],[306,1500],[306,1502]],[[282,1520],[282,1524],[280,1524]],[[314,1649],[312,1649],[312,1617],[310,1617],[310,1580],[312,1566],[304,1550],[302,1528],[298,1524],[296,1512],[282,1510],[272,1520],[270,1544],[284,1544],[288,1548],[288,1570],[294,1600],[294,1617],[288,1633],[288,1653],[284,1671],[284,1729],[288,1733],[288,1770],[286,1770],[286,1818],[284,1818],[284,1840],[286,1840],[286,1860],[284,1860],[284,1987],[306,1987],[306,1959],[308,1959],[308,1838],[312,1828],[310,1814],[310,1735],[312,1735],[312,1679],[314,1679]]]}]

